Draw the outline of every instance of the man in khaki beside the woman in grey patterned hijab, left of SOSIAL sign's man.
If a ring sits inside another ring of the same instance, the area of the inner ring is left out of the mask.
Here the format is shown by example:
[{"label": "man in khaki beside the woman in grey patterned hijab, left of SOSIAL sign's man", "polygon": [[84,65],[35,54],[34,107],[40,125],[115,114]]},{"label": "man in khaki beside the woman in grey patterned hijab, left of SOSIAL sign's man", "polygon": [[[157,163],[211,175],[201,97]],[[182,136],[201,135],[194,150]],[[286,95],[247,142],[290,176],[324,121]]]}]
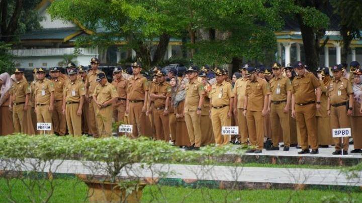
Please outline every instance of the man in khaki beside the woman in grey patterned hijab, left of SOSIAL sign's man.
[{"label": "man in khaki beside the woman in grey patterned hijab, left of SOSIAL sign's man", "polygon": [[184,114],[191,143],[191,146],[186,150],[199,150],[201,145],[200,119],[205,90],[202,83],[198,81],[198,72],[199,68],[197,66],[190,66],[186,70],[189,83],[185,88]]}]

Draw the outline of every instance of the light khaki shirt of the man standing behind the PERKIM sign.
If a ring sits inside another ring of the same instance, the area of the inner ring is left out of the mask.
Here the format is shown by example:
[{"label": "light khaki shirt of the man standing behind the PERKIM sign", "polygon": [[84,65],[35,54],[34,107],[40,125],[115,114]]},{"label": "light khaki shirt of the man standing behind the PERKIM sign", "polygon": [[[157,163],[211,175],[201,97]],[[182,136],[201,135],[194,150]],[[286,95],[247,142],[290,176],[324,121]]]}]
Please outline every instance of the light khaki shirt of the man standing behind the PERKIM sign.
[{"label": "light khaki shirt of the man standing behind the PERKIM sign", "polygon": [[[35,83],[35,97],[37,104],[50,104],[50,92],[54,92],[54,83],[47,78]],[[36,104],[36,105],[37,105]]]}]

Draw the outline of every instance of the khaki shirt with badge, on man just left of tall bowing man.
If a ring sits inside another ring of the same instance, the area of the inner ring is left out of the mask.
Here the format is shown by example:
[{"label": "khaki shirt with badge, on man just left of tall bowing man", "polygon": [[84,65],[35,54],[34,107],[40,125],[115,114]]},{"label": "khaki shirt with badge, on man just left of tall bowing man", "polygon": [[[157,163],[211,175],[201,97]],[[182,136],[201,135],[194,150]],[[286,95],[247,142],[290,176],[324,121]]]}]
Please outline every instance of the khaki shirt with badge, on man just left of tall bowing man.
[{"label": "khaki shirt with badge, on man just left of tall bowing man", "polygon": [[287,100],[287,91],[292,90],[292,83],[288,77],[283,75],[273,77],[269,83],[272,101]]}]

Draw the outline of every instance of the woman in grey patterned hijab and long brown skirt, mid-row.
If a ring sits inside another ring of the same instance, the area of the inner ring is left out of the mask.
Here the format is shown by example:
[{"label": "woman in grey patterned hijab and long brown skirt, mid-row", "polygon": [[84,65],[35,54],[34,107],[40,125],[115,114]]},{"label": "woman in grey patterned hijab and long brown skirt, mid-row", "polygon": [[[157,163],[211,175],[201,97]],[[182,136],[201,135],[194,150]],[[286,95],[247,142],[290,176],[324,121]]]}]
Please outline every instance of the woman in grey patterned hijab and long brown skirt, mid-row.
[{"label": "woman in grey patterned hijab and long brown skirt, mid-row", "polygon": [[185,116],[184,116],[184,104],[186,96],[186,83],[188,79],[182,79],[180,86],[174,99],[174,114],[176,116],[176,146],[190,146],[189,133],[187,131]]}]

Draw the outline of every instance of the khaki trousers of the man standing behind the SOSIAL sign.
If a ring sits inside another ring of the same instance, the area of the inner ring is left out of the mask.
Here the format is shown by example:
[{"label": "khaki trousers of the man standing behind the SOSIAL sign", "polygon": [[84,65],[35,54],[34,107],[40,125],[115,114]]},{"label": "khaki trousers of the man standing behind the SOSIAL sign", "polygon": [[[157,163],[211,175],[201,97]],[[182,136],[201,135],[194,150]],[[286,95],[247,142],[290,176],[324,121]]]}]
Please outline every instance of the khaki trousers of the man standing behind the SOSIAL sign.
[{"label": "khaki trousers of the man standing behind the SOSIAL sign", "polygon": [[229,106],[221,109],[211,109],[211,122],[214,130],[215,143],[217,145],[227,145],[230,142],[230,135],[221,135],[222,126],[230,126],[231,118],[227,118]]}]

